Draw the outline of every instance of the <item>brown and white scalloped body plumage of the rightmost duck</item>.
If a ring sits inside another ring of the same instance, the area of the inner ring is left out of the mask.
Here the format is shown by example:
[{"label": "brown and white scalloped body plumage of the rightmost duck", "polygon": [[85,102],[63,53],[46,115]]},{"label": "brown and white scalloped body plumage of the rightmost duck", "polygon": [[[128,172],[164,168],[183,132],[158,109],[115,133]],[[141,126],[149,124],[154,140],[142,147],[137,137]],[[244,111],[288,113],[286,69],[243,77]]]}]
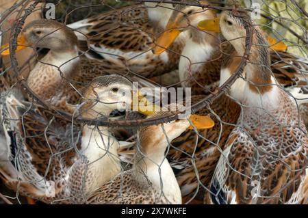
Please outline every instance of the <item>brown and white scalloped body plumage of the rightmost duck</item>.
[{"label": "brown and white scalloped body plumage of the rightmost duck", "polygon": [[211,187],[217,198],[212,195],[212,202],[299,203],[307,177],[307,131],[283,92],[279,104],[271,115],[255,116],[256,109],[244,108],[238,122],[243,129],[236,127],[224,148],[229,164],[222,157],[218,163]]}]

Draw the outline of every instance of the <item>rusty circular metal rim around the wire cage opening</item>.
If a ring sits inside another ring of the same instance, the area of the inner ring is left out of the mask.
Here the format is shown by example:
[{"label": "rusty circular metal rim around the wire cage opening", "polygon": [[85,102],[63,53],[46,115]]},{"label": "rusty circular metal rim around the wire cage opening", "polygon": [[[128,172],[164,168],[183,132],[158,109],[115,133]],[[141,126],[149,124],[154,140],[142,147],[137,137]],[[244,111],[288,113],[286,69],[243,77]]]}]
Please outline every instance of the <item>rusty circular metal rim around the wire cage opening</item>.
[{"label": "rusty circular metal rim around the wire cage opening", "polygon": [[[23,2],[25,2],[27,0],[24,0]],[[131,0],[131,1],[138,1],[138,0]],[[23,89],[29,94],[29,96],[31,96],[31,98],[33,98],[36,103],[39,103],[40,105],[42,105],[42,107],[45,107],[47,109],[51,109],[57,113],[59,113],[60,115],[63,116],[63,118],[67,119],[67,120],[72,120],[72,118],[74,118],[73,114],[68,113],[66,111],[62,111],[60,109],[56,109],[55,107],[53,107],[52,105],[49,105],[48,103],[45,103],[44,100],[42,100],[36,93],[34,93],[29,86],[27,85],[27,83],[25,83],[25,79],[21,79],[18,74],[19,74],[19,68],[18,68],[18,61],[16,59],[16,48],[17,48],[17,38],[19,33],[21,33],[21,29],[25,23],[25,19],[27,18],[27,16],[29,16],[29,14],[31,14],[31,12],[34,11],[34,9],[36,8],[36,6],[38,5],[38,3],[40,3],[42,1],[34,1],[34,3],[32,3],[31,5],[25,4],[23,5],[23,8],[25,8],[27,5],[29,5],[29,8],[24,9],[25,14],[23,14],[23,16],[21,16],[18,20],[16,20],[14,22],[14,24],[12,25],[12,32],[11,32],[11,38],[12,40],[10,41],[10,58],[11,58],[11,62],[12,62],[12,68],[14,71],[14,74],[16,76],[18,83],[21,84],[21,87],[23,87]],[[241,10],[244,10],[243,8],[240,8],[240,5],[235,4],[235,6],[233,6],[233,8],[227,8],[227,7],[218,7],[218,6],[211,6],[209,4],[207,5],[203,5],[201,3],[191,3],[188,1],[183,1],[183,2],[179,2],[179,1],[155,1],[155,0],[139,0],[138,2],[140,3],[144,3],[144,2],[157,2],[157,3],[181,3],[181,4],[185,4],[185,5],[193,5],[193,6],[198,6],[198,7],[202,7],[202,8],[211,8],[211,9],[218,9],[218,10],[232,10],[233,11],[233,15],[234,16],[239,16],[236,12],[239,12]],[[238,68],[235,70],[235,72],[233,73],[233,75],[231,77],[229,77],[229,79],[227,81],[225,81],[222,85],[220,85],[220,87],[217,87],[216,90],[214,90],[214,92],[212,92],[211,94],[207,95],[205,98],[203,98],[202,100],[198,101],[198,103],[195,103],[194,105],[192,105],[190,107],[192,113],[195,113],[198,110],[203,109],[204,107],[206,107],[207,105],[209,105],[210,103],[212,103],[214,100],[216,100],[216,98],[219,98],[220,95],[224,94],[227,89],[235,82],[236,79],[238,79],[238,77],[240,76],[240,74],[242,74],[242,72],[244,71],[244,67],[247,64],[247,59],[248,59],[248,55],[249,55],[249,51],[251,49],[252,46],[252,23],[251,21],[248,21],[247,23],[244,22],[244,28],[246,29],[246,42],[245,42],[245,52],[244,55],[241,59],[240,65],[238,66]],[[181,112],[175,112],[172,113],[170,115],[161,115],[161,116],[157,116],[155,118],[144,118],[144,119],[140,119],[140,120],[109,120],[107,117],[105,118],[99,118],[99,119],[88,119],[88,118],[75,118],[74,122],[81,122],[84,124],[95,124],[97,126],[108,126],[108,127],[123,127],[123,128],[131,128],[131,127],[136,127],[136,126],[149,126],[149,125],[153,125],[153,124],[162,124],[162,123],[166,123],[166,122],[171,122],[173,120],[177,120],[179,119],[179,114]]]}]

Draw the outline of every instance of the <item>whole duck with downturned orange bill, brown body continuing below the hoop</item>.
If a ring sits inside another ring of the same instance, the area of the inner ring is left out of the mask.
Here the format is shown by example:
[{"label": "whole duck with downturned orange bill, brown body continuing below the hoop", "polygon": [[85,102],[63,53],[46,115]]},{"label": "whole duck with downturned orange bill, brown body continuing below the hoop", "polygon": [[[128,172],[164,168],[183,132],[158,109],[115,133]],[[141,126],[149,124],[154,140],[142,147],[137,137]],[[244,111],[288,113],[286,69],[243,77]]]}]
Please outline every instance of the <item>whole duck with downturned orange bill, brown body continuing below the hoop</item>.
[{"label": "whole duck with downturned orange bill, brown body continuing below the hoop", "polygon": [[[207,4],[207,1],[201,3]],[[190,33],[179,61],[179,78],[182,87],[192,88],[192,105],[211,93],[214,90],[211,85],[215,85],[220,79],[221,53],[216,45],[218,33],[199,31],[196,28],[198,22],[209,18],[216,18],[212,10],[177,5],[166,26],[170,32],[167,30],[157,38],[158,46],[154,49],[154,53],[161,53],[175,39],[173,34],[181,34],[181,31]],[[212,59],[214,61],[209,61]],[[203,86],[196,85],[195,80]],[[205,86],[209,89],[205,90]],[[203,196],[209,191],[220,150],[240,115],[240,106],[222,94],[209,107],[197,111],[196,114],[210,115],[215,122],[214,127],[200,130],[198,133],[186,130],[171,141],[172,148],[167,156],[175,170],[185,204],[203,204]]]}]

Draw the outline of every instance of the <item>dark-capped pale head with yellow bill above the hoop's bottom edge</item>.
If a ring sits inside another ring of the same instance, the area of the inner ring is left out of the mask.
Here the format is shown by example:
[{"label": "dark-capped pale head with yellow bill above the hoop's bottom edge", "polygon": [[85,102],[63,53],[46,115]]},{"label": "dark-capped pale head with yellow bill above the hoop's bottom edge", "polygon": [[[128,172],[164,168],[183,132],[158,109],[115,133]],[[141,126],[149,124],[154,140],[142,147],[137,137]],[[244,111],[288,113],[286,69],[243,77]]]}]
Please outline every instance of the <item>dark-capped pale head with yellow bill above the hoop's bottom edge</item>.
[{"label": "dark-capped pale head with yellow bill above the hoop's bottom edge", "polygon": [[133,87],[129,79],[112,74],[97,77],[92,80],[86,92],[81,111],[84,117],[97,118],[108,116],[112,111],[138,111],[144,115],[154,113],[151,105],[138,88]]}]

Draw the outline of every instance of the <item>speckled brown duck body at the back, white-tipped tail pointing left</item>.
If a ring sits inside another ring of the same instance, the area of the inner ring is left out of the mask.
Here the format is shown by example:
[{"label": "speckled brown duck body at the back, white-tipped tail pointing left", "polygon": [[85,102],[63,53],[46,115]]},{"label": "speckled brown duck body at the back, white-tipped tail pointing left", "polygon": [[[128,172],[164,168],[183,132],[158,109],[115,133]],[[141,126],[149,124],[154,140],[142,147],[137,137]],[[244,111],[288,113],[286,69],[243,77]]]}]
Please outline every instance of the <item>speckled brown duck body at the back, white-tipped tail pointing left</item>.
[{"label": "speckled brown duck body at the back, white-tipped tail pointing left", "polygon": [[142,77],[156,77],[176,70],[179,54],[185,44],[182,34],[170,51],[153,55],[155,35],[160,33],[174,6],[171,3],[129,5],[86,18],[68,27],[75,30],[79,48],[89,58],[122,62],[133,73]]}]

